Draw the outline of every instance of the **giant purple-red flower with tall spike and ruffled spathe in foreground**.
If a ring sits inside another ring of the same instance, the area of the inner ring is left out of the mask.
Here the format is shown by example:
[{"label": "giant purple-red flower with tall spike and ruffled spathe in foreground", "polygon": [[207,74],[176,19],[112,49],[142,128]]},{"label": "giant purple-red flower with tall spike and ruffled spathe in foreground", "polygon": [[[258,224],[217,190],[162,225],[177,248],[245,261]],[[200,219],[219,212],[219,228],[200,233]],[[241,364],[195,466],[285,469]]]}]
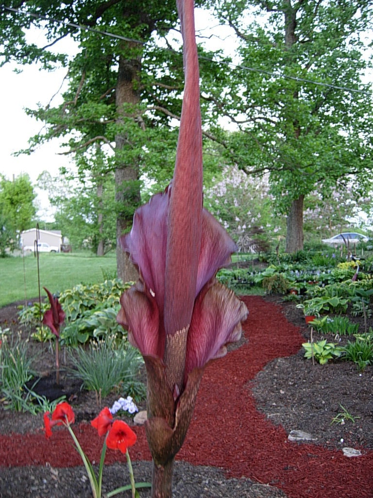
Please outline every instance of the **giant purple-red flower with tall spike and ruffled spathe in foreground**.
[{"label": "giant purple-red flower with tall spike and ruffled spathe in foreground", "polygon": [[117,320],[147,370],[145,430],[152,496],[172,494],[173,462],[189,426],[203,369],[238,341],[247,308],[215,275],[236,245],[202,206],[202,130],[193,0],[177,0],[185,89],[174,177],[134,215],[120,240],[139,270]]}]

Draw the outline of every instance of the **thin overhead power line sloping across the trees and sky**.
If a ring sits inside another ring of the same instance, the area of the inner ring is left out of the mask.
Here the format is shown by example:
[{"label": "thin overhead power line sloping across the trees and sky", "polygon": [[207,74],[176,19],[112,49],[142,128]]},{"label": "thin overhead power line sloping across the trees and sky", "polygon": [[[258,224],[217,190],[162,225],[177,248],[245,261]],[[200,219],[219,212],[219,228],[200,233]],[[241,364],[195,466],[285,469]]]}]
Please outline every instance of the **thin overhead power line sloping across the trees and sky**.
[{"label": "thin overhead power line sloping across the trees and sky", "polygon": [[[9,11],[15,12],[17,14],[29,15],[30,17],[34,17],[36,19],[43,19],[43,20],[45,20],[47,22],[56,22],[58,24],[62,24],[64,26],[70,26],[70,27],[79,29],[81,31],[92,31],[93,33],[97,33],[97,34],[102,35],[102,36],[109,36],[111,38],[115,38],[115,39],[118,39],[118,40],[129,41],[129,42],[132,42],[132,43],[138,43],[140,45],[144,45],[145,44],[145,42],[143,42],[141,40],[136,40],[134,38],[128,38],[126,36],[122,36],[122,35],[119,35],[119,34],[110,33],[109,31],[101,31],[99,29],[92,28],[90,26],[84,26],[84,25],[76,24],[76,23],[70,22],[70,21],[61,21],[61,20],[55,19],[53,17],[47,17],[47,16],[44,16],[44,15],[41,15],[41,14],[34,14],[32,12],[24,12],[22,10],[19,10],[19,9],[16,9],[16,8],[12,8],[12,7],[6,7],[6,6],[2,6],[2,7],[5,10],[9,10]],[[173,50],[172,48],[169,48],[169,47],[161,47],[161,48],[163,50],[168,50],[168,51],[171,51],[171,52],[174,52],[174,53],[178,53],[176,50]],[[223,64],[223,65],[235,68],[235,69],[242,69],[242,70],[245,70],[245,71],[251,71],[251,72],[255,72],[255,73],[266,74],[268,76],[275,77],[275,78],[281,77],[281,78],[284,78],[286,80],[297,81],[297,82],[300,82],[300,83],[308,83],[308,84],[311,84],[311,85],[318,85],[318,86],[322,86],[322,87],[326,87],[326,88],[331,88],[331,89],[335,89],[335,90],[343,90],[344,92],[349,92],[349,93],[358,93],[358,94],[363,94],[363,95],[371,95],[372,94],[372,92],[367,92],[365,90],[359,90],[359,89],[356,89],[356,88],[349,88],[349,87],[344,87],[344,86],[340,86],[340,85],[333,85],[331,83],[323,83],[321,81],[313,81],[313,80],[310,80],[310,79],[307,79],[307,78],[300,78],[298,76],[289,76],[289,75],[286,75],[286,74],[283,74],[283,73],[279,73],[279,72],[271,72],[271,71],[266,71],[265,69],[258,69],[258,68],[253,68],[253,67],[249,67],[249,66],[243,66],[241,64],[233,64],[233,62],[216,61],[216,60],[210,59],[209,57],[205,57],[205,56],[198,56],[198,58],[206,60],[206,61],[209,61],[209,62],[213,62],[215,64]]]}]

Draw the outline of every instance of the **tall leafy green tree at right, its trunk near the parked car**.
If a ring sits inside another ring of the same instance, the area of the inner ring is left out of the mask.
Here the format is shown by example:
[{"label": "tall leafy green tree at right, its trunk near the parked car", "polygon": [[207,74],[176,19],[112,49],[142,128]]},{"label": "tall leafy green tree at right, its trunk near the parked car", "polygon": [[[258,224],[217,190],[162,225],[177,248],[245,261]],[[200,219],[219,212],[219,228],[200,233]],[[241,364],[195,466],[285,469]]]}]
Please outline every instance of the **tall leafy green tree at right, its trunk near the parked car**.
[{"label": "tall leafy green tree at right, its trunk near the parked car", "polygon": [[[219,1],[239,40],[231,86],[211,94],[238,132],[226,151],[248,174],[270,171],[287,216],[286,250],[303,248],[303,202],[372,173],[372,1]],[[227,69],[228,70],[228,69]]]}]

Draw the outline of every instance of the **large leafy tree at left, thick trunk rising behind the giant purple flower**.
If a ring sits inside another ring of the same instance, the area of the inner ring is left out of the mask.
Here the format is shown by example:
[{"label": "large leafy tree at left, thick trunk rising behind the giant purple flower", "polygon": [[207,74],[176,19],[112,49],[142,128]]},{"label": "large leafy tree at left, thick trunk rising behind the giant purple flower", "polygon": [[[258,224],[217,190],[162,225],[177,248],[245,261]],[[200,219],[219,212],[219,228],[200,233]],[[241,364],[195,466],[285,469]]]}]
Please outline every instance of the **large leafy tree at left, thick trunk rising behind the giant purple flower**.
[{"label": "large leafy tree at left, thick trunk rising behind the giant purple flower", "polygon": [[[175,0],[9,1],[0,10],[1,64],[68,66],[63,103],[29,111],[47,124],[45,132],[31,141],[31,149],[65,136],[82,179],[89,171],[98,191],[100,177],[110,170],[115,173],[118,237],[131,226],[140,202],[139,168],[150,159],[147,152],[152,146],[154,151],[153,130],[180,116],[182,56],[162,41],[177,22]],[[28,41],[31,25],[43,31],[45,46]],[[56,49],[67,36],[79,47],[70,62]],[[174,150],[176,139],[177,134]],[[171,173],[175,152],[169,151],[163,147],[157,158],[170,165]],[[117,272],[124,280],[135,277],[119,247]]]}]

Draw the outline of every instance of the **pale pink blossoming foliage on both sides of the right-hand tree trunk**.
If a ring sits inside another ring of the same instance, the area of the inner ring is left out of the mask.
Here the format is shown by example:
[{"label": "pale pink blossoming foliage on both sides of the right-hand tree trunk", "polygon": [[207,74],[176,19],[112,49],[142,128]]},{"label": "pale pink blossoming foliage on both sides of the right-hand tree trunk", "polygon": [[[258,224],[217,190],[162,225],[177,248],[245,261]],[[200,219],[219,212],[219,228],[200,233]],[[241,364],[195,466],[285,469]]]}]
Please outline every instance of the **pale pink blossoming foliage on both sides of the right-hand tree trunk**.
[{"label": "pale pink blossoming foliage on both sides of the right-hand tree trunk", "polygon": [[[359,195],[353,179],[343,187],[312,191],[304,201],[304,239],[318,241],[350,228],[364,228],[370,219],[370,199]],[[330,194],[330,193],[329,193]],[[237,166],[224,166],[204,191],[204,205],[236,242],[256,229],[278,242],[286,234],[286,216],[270,192],[269,177],[248,176]]]}]

